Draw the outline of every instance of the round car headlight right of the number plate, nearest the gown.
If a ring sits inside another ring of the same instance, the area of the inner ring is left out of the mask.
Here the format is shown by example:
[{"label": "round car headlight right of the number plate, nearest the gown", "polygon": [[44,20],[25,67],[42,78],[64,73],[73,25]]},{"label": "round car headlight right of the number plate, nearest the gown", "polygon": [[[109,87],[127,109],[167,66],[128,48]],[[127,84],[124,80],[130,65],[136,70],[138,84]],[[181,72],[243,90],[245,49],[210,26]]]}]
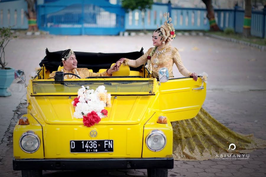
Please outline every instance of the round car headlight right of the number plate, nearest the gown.
[{"label": "round car headlight right of the number plate, nearest the gown", "polygon": [[153,130],[146,137],[146,145],[152,151],[160,151],[166,145],[166,136],[160,130]]}]

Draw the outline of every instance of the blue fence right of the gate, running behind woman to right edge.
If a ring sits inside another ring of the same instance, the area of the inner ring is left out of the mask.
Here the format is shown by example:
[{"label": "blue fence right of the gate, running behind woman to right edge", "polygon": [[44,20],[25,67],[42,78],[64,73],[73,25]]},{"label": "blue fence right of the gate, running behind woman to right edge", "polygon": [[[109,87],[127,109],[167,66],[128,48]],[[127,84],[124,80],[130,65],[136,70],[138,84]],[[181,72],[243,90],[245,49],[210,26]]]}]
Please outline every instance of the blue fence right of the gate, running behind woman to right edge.
[{"label": "blue fence right of the gate, running behind woman to right edge", "polygon": [[[126,14],[126,30],[154,30],[157,24],[163,24],[162,14],[170,12],[176,30],[209,30],[209,20],[206,17],[206,9],[177,8],[171,4],[155,3],[151,10],[145,13],[134,10]],[[265,37],[266,11],[252,11],[251,35]],[[144,24],[143,24],[144,16]],[[235,32],[243,32],[244,10],[239,7],[234,9],[215,9],[215,20],[221,30],[233,28]]]}]

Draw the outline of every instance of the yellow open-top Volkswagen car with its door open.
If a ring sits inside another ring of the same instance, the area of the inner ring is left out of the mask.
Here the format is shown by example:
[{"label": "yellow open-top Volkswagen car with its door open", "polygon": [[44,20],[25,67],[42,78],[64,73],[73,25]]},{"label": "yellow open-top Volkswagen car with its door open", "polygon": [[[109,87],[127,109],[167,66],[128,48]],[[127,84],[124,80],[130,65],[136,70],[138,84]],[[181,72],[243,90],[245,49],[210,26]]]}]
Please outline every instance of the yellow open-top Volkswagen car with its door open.
[{"label": "yellow open-top Volkswagen car with its door open", "polygon": [[[103,72],[119,58],[136,59],[140,52],[75,52],[78,68]],[[41,69],[27,85],[27,114],[14,128],[13,169],[23,177],[42,176],[42,170],[147,169],[148,176],[165,177],[173,168],[172,121],[190,119],[199,112],[206,84],[192,78],[160,81],[145,66],[121,66],[111,77],[50,78],[60,71],[60,54],[46,51]],[[15,71],[15,81],[25,83],[25,73]],[[26,84],[26,83],[25,83]],[[84,126],[73,117],[72,101],[81,86],[105,86],[111,94],[108,117]]]}]

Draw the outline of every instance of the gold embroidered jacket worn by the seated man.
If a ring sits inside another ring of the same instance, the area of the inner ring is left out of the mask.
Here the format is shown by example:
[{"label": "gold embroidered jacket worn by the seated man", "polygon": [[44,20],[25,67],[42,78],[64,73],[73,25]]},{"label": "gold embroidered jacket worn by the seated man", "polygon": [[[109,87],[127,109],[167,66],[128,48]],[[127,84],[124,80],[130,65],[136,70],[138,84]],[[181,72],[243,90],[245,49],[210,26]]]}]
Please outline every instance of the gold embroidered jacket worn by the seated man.
[{"label": "gold embroidered jacket worn by the seated man", "polygon": [[[103,72],[103,73],[92,73],[92,72],[89,71],[88,68],[76,68],[76,69],[73,69],[72,71],[67,71],[65,69],[62,69],[62,70],[63,70],[64,73],[76,74],[76,75],[80,76],[82,79],[84,79],[86,77],[111,76],[106,71]],[[51,78],[54,75],[55,75],[55,73],[51,73],[49,76]],[[73,75],[65,75],[64,78],[65,79],[76,79],[78,77],[73,76]]]}]

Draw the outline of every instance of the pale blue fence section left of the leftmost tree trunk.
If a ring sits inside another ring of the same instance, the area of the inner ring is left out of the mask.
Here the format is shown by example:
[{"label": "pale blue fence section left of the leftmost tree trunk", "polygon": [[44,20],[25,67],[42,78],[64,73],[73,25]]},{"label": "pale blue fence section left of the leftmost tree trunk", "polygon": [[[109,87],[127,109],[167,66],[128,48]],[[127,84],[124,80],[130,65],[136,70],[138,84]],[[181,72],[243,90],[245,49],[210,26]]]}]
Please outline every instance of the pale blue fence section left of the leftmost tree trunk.
[{"label": "pale blue fence section left of the leftmost tree trunk", "polygon": [[25,16],[27,3],[25,0],[0,2],[0,27],[9,27],[13,29],[27,29],[28,19]]}]

